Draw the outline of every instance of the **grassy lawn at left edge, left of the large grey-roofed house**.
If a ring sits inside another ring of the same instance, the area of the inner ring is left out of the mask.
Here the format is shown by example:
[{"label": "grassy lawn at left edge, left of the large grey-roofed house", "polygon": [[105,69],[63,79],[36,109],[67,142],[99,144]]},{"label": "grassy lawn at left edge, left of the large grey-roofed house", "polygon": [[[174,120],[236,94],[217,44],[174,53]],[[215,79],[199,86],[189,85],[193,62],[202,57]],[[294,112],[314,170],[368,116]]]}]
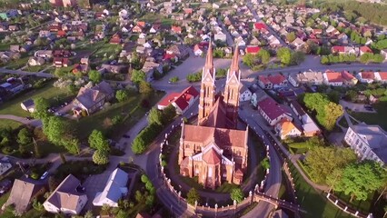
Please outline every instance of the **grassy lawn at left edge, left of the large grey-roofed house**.
[{"label": "grassy lawn at left edge, left of the large grey-roofed house", "polygon": [[45,84],[45,87],[37,90],[32,90],[28,93],[18,95],[14,99],[0,104],[0,114],[13,114],[17,116],[28,116],[28,112],[25,112],[20,104],[25,100],[36,97],[44,97],[50,101],[51,104],[60,104],[63,101],[69,99],[74,94],[70,94],[66,89],[59,89],[53,86],[53,83]]}]

